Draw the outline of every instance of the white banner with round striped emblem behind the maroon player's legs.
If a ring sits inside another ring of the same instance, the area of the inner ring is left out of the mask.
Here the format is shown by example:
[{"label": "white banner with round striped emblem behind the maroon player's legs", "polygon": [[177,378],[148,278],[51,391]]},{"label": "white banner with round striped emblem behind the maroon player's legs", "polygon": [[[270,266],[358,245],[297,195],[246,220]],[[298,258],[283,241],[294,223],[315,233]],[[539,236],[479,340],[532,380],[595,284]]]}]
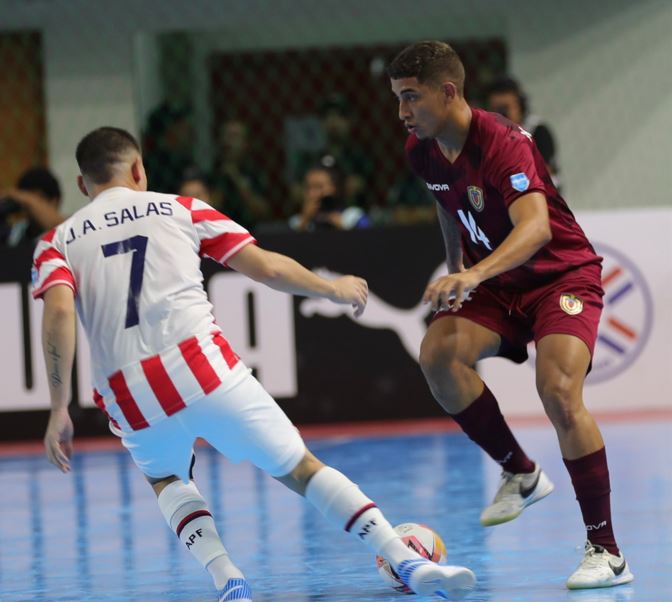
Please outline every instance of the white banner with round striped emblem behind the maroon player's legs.
[{"label": "white banner with round striped emblem behind the maroon player's legs", "polygon": [[[604,310],[584,400],[600,413],[672,409],[672,210],[577,214],[604,257]],[[479,371],[507,415],[540,415],[534,346],[517,366],[484,360]]]}]

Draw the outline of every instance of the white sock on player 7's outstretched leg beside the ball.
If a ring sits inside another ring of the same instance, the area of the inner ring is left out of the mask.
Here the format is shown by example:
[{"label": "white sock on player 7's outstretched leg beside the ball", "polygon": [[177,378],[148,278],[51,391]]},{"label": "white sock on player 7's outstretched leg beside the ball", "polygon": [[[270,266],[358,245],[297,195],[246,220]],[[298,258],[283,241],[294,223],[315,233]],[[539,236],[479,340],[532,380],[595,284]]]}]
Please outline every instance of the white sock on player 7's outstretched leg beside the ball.
[{"label": "white sock on player 7's outstretched leg beside the ball", "polygon": [[393,568],[420,558],[408,548],[378,507],[344,474],[325,466],[308,482],[306,499],[329,522],[345,529],[385,558]]}]

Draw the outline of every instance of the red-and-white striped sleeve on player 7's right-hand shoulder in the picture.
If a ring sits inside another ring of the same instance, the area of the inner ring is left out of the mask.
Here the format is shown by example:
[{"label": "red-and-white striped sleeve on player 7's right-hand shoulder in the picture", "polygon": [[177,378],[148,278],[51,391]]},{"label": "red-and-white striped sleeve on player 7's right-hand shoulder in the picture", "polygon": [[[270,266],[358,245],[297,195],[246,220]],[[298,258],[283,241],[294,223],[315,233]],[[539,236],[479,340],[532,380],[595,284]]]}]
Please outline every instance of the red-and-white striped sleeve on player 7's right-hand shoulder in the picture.
[{"label": "red-and-white striped sleeve on player 7's right-hand shoulder in the picture", "polygon": [[189,197],[178,197],[177,202],[191,214],[201,257],[210,257],[225,265],[243,247],[257,242],[240,224],[208,203]]}]

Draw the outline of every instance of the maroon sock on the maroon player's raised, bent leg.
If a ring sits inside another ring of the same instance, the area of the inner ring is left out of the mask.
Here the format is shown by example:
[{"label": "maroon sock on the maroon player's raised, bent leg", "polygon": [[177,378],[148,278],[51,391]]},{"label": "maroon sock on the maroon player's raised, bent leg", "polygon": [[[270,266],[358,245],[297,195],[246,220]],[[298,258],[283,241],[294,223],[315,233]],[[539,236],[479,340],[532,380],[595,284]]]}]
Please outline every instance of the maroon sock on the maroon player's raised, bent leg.
[{"label": "maroon sock on the maroon player's raised, bent leg", "polygon": [[451,414],[476,445],[507,472],[533,472],[534,462],[520,448],[504,421],[499,404],[487,386],[474,402],[459,414]]}]

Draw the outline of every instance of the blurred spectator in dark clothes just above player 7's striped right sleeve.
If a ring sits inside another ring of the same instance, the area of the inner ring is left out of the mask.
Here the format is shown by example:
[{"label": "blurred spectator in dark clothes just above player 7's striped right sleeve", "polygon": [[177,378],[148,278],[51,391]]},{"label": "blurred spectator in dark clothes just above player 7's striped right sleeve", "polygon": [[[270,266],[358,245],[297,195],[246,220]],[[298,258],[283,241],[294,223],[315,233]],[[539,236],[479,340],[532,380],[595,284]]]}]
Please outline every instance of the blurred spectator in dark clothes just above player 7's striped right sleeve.
[{"label": "blurred spectator in dark clothes just above player 7's striped right sleeve", "polygon": [[219,155],[212,174],[217,208],[242,226],[253,229],[272,217],[266,197],[267,180],[250,157],[247,125],[237,119],[222,124]]}]

